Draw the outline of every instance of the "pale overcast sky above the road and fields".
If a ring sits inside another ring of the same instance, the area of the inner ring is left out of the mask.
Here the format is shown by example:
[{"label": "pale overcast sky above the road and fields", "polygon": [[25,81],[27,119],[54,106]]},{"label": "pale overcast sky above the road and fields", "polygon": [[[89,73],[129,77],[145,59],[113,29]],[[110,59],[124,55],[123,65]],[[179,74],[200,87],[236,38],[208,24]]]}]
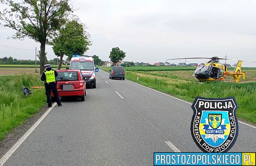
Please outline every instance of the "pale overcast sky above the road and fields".
[{"label": "pale overcast sky above the road and fields", "polygon": [[[92,46],[86,54],[104,61],[109,61],[113,47],[126,52],[125,61],[151,64],[168,58],[226,54],[232,59],[256,61],[255,0],[74,0],[72,5],[78,9],[74,14],[89,27]],[[40,43],[7,39],[14,33],[0,27],[0,57],[35,59],[35,47],[39,49]],[[46,52],[48,60],[56,57],[51,46],[46,47]],[[256,63],[243,62],[242,66],[256,67]]]}]

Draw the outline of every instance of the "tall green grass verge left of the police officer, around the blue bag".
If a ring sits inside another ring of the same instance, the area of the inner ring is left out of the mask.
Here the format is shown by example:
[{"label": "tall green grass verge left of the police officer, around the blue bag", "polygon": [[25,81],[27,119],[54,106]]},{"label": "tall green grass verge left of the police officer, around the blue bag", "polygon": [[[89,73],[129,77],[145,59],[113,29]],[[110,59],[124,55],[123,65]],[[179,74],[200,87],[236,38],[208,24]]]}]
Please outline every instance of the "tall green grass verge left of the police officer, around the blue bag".
[{"label": "tall green grass verge left of the police officer, around the blue bag", "polygon": [[[24,97],[22,86],[28,87],[32,95]],[[45,105],[44,88],[32,89],[32,86],[44,86],[39,74],[0,76],[0,140]]]}]

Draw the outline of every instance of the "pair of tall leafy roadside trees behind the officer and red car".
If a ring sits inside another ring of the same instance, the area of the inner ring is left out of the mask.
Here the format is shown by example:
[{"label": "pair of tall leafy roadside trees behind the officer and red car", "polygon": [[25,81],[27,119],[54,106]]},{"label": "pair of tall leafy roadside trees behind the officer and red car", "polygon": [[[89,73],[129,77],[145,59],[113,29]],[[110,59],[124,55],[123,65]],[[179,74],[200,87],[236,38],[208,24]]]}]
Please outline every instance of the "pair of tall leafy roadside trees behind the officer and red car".
[{"label": "pair of tall leafy roadside trees behind the officer and red car", "polygon": [[40,42],[40,73],[44,71],[45,45],[52,45],[61,61],[64,55],[71,58],[82,55],[91,45],[90,34],[79,18],[72,15],[71,0],[0,0],[9,8],[0,11],[4,26],[16,30],[13,39],[28,37]]}]

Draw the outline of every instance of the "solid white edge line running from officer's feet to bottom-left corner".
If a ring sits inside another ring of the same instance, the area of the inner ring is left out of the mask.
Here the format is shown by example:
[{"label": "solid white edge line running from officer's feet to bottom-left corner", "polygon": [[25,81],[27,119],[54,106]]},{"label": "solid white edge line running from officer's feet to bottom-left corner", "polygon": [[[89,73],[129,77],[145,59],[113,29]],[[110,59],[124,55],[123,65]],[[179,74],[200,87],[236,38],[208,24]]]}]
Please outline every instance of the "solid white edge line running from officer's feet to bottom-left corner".
[{"label": "solid white edge line running from officer's feet to bottom-left corner", "polygon": [[49,108],[40,119],[36,121],[36,123],[16,142],[15,145],[1,158],[0,160],[0,166],[4,165],[4,163],[8,160],[8,158],[15,152],[15,150],[22,144],[24,140],[27,139],[27,137],[33,132],[38,124],[42,122],[44,117],[52,110],[52,108],[56,105],[57,103],[55,102],[51,108]]}]

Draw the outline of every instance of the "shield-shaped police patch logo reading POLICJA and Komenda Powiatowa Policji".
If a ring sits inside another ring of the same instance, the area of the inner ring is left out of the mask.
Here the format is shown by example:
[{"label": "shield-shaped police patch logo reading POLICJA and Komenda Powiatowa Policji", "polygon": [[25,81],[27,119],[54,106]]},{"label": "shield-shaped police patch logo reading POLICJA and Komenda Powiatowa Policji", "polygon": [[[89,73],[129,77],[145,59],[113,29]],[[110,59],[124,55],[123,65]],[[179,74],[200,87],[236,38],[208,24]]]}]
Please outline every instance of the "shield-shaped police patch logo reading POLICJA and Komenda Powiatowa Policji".
[{"label": "shield-shaped police patch logo reading POLICJA and Komenda Powiatowa Policji", "polygon": [[235,97],[196,97],[192,109],[191,134],[204,152],[228,152],[238,136]]}]

